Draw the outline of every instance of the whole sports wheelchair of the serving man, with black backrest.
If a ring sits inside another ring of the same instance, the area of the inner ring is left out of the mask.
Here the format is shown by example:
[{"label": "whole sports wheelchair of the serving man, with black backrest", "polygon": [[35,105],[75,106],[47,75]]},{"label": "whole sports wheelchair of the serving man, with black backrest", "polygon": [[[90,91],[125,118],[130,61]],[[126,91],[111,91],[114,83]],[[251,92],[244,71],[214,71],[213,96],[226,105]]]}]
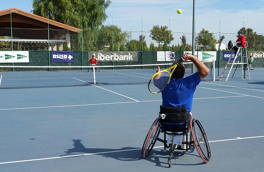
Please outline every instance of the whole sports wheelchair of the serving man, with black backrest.
[{"label": "whole sports wheelchair of the serving man, with black backrest", "polygon": [[[191,131],[191,132],[190,132]],[[164,133],[164,139],[159,138],[160,132]],[[191,134],[190,140],[188,134]],[[166,135],[168,139],[166,140]],[[186,141],[182,140],[182,136],[186,135]],[[176,140],[175,140],[176,139]],[[159,117],[153,122],[147,133],[144,144],[141,149],[143,158],[150,154],[156,141],[164,143],[164,150],[169,148],[168,167],[171,167],[171,157],[179,145],[186,146],[185,149],[192,153],[195,148],[201,159],[208,163],[211,158],[211,149],[208,138],[205,134],[202,124],[199,120],[191,117],[190,113],[186,113],[186,107],[165,107],[160,106]],[[175,142],[176,141],[176,142]]]}]

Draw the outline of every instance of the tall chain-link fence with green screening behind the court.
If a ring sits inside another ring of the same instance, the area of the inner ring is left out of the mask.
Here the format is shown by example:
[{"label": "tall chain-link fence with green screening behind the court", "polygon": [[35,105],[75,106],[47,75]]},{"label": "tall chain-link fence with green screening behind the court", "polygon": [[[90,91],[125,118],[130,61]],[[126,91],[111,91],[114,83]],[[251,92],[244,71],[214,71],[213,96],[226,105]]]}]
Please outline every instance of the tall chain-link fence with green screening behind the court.
[{"label": "tall chain-link fence with green screening behind the court", "polygon": [[[175,36],[182,36],[183,33],[172,32]],[[232,33],[224,33],[228,35]],[[138,35],[138,40],[132,39]],[[171,44],[170,40],[165,43],[154,46],[147,45],[145,36],[150,32],[132,32],[116,30],[83,30],[77,33],[70,30],[55,29],[21,29],[21,28],[0,28],[0,50],[26,50],[29,51],[29,63],[2,63],[1,65],[23,65],[23,66],[88,66],[88,51],[137,51],[138,61],[136,62],[100,62],[100,65],[130,65],[130,64],[157,64],[157,51],[175,51],[176,59],[179,59],[183,51],[191,51],[189,44]],[[215,39],[220,38],[223,33],[212,33]],[[175,37],[174,36],[174,37]],[[232,34],[234,41],[236,34]],[[264,42],[263,42],[264,43]],[[207,45],[207,43],[204,43]],[[227,45],[228,41],[223,40],[222,44]],[[216,51],[218,45],[214,47],[197,44],[198,50]],[[261,48],[261,44],[257,47]],[[262,46],[263,47],[263,46]],[[250,47],[248,47],[248,50]],[[51,62],[51,50],[55,51],[74,51],[73,63],[55,63]],[[195,50],[195,51],[196,51]],[[226,61],[223,61],[223,51],[227,46],[217,51],[216,68],[223,68]],[[255,67],[264,67],[264,59],[255,59]]]}]

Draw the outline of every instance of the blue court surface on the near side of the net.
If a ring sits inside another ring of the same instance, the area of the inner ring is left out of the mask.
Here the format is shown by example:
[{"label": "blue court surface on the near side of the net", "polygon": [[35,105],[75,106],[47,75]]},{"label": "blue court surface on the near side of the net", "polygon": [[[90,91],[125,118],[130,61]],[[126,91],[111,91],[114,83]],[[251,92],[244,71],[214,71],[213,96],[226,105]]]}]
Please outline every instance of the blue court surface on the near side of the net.
[{"label": "blue court surface on the near side of the net", "polygon": [[146,84],[1,89],[0,171],[263,171],[264,69],[250,76],[199,84],[211,160],[175,150],[170,169],[160,142],[141,155],[162,103]]}]

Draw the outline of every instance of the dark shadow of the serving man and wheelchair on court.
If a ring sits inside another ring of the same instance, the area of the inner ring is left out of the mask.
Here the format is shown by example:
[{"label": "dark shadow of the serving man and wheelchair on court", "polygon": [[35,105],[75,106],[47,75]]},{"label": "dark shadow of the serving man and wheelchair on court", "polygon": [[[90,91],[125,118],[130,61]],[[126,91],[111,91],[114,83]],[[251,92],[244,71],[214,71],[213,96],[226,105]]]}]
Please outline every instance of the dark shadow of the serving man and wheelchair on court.
[{"label": "dark shadow of the serving man and wheelchair on court", "polygon": [[[137,161],[143,159],[141,155],[141,148],[123,147],[121,149],[109,148],[86,148],[81,139],[73,139],[73,148],[67,149],[66,154],[61,157],[79,157],[84,155],[100,155],[106,158],[114,158],[120,161]],[[169,151],[163,149],[153,149],[144,160],[155,163],[155,166],[168,167],[167,156]],[[184,156],[183,156],[184,155]],[[175,151],[171,159],[172,165],[200,165],[201,162],[199,155],[186,151]]]}]

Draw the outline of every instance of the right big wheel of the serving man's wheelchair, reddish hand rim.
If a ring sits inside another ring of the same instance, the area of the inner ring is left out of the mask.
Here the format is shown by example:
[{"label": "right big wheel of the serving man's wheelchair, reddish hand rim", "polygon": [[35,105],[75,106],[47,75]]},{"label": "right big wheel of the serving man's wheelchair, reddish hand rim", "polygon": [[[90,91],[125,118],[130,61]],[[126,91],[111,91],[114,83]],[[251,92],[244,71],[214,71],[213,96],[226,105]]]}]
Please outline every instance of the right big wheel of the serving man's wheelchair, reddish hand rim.
[{"label": "right big wheel of the serving man's wheelchair, reddish hand rim", "polygon": [[191,135],[194,140],[195,147],[201,159],[208,163],[211,158],[211,149],[208,138],[205,134],[202,124],[199,120],[191,118]]}]

